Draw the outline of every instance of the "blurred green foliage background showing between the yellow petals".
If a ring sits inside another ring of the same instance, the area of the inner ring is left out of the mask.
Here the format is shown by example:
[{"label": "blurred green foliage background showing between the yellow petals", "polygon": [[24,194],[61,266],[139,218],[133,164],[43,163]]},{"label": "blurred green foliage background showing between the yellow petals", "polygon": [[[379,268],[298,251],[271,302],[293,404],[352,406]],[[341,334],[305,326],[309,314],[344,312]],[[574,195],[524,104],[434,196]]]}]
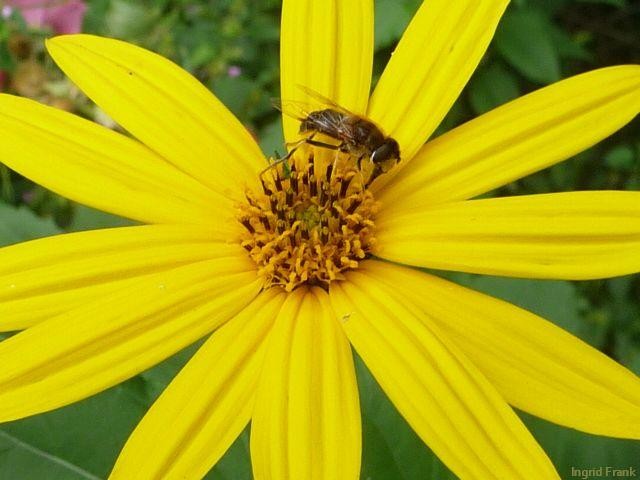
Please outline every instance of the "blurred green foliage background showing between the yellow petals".
[{"label": "blurred green foliage background showing between the yellow petals", "polygon": [[[374,82],[420,3],[375,1]],[[0,7],[0,91],[118,129],[65,79],[43,46],[45,38],[59,33],[106,35],[173,59],[215,92],[266,154],[282,151],[280,119],[270,102],[279,95],[279,0],[0,0]],[[561,78],[623,63],[640,63],[640,0],[513,0],[438,133]],[[640,122],[495,194],[588,189],[640,190]],[[0,164],[0,245],[127,224],[48,192]],[[640,374],[639,275],[564,282],[438,274],[538,313]],[[1,425],[0,480],[106,478],[128,434],[196,347],[84,402]],[[361,362],[358,375],[362,478],[454,478],[393,410]],[[600,466],[640,471],[639,442],[522,417],[562,478],[577,478],[572,469]],[[245,432],[207,479],[250,478]]]}]

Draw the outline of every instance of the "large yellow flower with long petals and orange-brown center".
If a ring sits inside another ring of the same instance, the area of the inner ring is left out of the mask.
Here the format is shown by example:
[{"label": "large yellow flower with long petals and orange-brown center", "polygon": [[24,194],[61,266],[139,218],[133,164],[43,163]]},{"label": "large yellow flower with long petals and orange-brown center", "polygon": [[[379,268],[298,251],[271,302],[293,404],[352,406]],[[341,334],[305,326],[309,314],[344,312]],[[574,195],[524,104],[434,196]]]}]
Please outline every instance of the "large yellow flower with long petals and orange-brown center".
[{"label": "large yellow flower with long petals and orange-brown center", "polygon": [[[0,159],[151,225],[0,251],[0,327],[25,329],[0,343],[0,420],[92,395],[214,332],[112,479],[200,478],[249,421],[256,479],[358,478],[349,344],[462,479],[558,478],[509,405],[640,438],[631,372],[529,312],[399,265],[562,279],[640,270],[638,192],[468,200],[630,121],[640,67],[559,82],[425,145],[507,3],[425,2],[369,98],[372,2],[284,2],[282,97],[314,102],[308,87],[400,144],[397,168],[364,190],[353,157],[307,145],[263,186],[258,146],[189,74],[115,40],[51,40],[58,65],[135,139],[3,95]],[[284,126],[295,141],[299,123]]]}]

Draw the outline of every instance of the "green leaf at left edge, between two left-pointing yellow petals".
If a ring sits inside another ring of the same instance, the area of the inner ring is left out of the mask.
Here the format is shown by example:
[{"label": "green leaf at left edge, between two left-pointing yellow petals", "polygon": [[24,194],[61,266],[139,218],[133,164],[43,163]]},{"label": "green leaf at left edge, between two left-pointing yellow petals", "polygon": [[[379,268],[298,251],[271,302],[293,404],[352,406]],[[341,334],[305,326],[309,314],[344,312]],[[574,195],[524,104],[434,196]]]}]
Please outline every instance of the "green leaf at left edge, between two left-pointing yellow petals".
[{"label": "green leaf at left edge, between two left-pointing yellow petals", "polygon": [[37,217],[26,207],[14,208],[0,203],[0,245],[11,245],[57,233],[60,233],[60,229],[50,218]]}]

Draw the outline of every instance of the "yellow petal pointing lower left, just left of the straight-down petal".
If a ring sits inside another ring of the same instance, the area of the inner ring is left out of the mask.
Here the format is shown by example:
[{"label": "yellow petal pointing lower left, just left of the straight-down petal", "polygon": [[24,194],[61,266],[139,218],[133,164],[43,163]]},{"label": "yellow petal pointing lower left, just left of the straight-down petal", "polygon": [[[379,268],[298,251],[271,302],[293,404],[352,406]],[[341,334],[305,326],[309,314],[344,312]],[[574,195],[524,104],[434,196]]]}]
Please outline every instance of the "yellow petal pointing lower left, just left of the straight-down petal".
[{"label": "yellow petal pointing lower left, just left of the straight-down petal", "polygon": [[249,423],[284,295],[270,289],[220,327],[138,424],[110,480],[198,479]]}]

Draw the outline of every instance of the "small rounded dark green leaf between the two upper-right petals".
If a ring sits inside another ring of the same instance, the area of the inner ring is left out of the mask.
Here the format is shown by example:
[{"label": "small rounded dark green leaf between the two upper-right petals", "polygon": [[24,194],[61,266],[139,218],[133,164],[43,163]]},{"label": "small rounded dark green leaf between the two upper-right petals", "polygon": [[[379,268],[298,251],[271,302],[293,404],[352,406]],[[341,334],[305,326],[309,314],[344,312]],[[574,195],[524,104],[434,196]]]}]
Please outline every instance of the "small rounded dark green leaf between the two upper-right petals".
[{"label": "small rounded dark green leaf between the two upper-right petals", "polygon": [[516,76],[501,63],[484,67],[469,84],[469,101],[477,114],[482,114],[520,96]]}]

